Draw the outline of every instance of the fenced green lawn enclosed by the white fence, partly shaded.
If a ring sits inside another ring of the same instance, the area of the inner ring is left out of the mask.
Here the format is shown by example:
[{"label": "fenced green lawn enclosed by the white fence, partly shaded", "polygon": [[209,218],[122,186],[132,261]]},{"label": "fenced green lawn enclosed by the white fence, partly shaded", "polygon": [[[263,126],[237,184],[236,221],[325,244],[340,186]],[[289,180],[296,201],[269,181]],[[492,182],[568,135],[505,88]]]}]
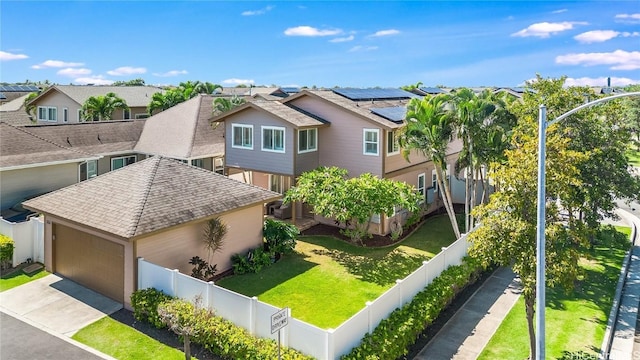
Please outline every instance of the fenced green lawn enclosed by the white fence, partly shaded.
[{"label": "fenced green lawn enclosed by the white fence, partly shaded", "polygon": [[402,243],[364,248],[325,236],[302,236],[288,255],[257,274],[217,285],[277,307],[320,328],[335,328],[455,240],[446,216],[428,219]]}]

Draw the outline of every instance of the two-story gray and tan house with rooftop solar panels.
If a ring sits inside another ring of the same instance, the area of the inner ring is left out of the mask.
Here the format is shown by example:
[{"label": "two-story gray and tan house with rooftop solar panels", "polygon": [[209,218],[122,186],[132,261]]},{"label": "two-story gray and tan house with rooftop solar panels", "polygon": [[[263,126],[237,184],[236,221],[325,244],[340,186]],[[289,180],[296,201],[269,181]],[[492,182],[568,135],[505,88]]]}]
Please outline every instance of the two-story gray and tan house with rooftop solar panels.
[{"label": "two-story gray and tan house with rooftop solar panels", "polygon": [[[396,141],[406,105],[415,97],[401,89],[304,89],[280,101],[244,104],[213,118],[224,121],[226,173],[284,193],[303,172],[337,166],[349,176],[371,173],[413,185],[433,211],[439,206],[433,163],[418,153],[407,162]],[[450,144],[449,168],[461,149],[460,141]],[[464,185],[450,179],[454,200],[464,203]],[[304,204],[290,216],[315,217]],[[373,230],[388,234],[392,220],[380,219]]]}]

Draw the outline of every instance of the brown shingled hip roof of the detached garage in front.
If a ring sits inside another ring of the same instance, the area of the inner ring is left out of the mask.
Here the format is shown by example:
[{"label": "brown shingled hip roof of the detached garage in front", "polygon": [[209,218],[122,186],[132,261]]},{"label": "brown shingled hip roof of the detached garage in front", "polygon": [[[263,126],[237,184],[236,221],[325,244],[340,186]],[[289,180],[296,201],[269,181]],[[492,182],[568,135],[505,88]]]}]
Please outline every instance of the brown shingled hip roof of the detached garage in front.
[{"label": "brown shingled hip roof of the detached garage in front", "polygon": [[24,206],[130,239],[280,197],[177,160],[152,157]]}]

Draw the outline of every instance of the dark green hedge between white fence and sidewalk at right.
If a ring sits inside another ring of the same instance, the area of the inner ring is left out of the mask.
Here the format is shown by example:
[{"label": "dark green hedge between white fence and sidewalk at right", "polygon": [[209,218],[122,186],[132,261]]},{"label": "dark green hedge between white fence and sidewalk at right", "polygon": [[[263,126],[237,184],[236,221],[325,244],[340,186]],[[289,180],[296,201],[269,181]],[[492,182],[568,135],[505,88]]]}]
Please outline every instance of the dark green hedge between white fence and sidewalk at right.
[{"label": "dark green hedge between white fence and sidewalk at right", "polygon": [[468,284],[475,282],[483,268],[465,257],[461,265],[443,271],[411,302],[396,309],[362,339],[343,360],[394,360],[407,355],[409,347]]}]

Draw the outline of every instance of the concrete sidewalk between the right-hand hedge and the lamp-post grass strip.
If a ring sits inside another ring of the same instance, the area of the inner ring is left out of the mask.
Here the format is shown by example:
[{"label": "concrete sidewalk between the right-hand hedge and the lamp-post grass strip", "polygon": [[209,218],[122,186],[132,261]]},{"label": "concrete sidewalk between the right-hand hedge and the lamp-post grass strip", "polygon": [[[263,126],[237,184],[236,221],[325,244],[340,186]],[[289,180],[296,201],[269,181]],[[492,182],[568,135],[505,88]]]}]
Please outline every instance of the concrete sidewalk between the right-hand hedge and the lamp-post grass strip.
[{"label": "concrete sidewalk between the right-hand hedge and the lamp-post grass strip", "polygon": [[513,271],[499,268],[414,359],[476,359],[520,292],[520,281]]}]

